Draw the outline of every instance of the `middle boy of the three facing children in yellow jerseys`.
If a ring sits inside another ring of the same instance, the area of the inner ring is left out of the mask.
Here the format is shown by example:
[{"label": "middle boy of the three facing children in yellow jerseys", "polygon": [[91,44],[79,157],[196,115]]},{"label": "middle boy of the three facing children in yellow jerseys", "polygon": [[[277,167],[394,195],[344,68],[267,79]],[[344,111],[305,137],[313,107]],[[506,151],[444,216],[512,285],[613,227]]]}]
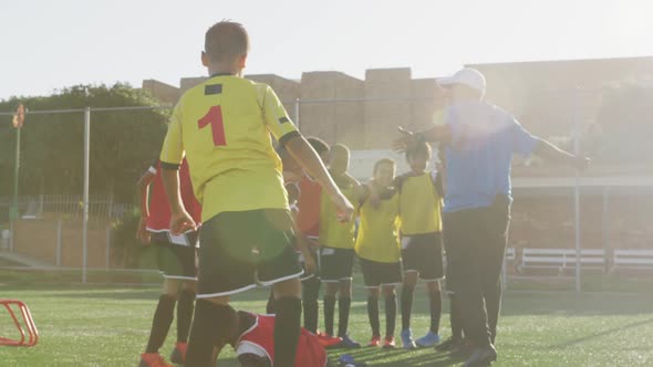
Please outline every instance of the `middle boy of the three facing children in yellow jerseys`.
[{"label": "middle boy of the three facing children in yellow jerseys", "polygon": [[[400,197],[393,187],[396,165],[392,159],[381,159],[374,165],[374,179],[366,186],[379,199],[362,200],[359,210],[361,224],[355,251],[361,261],[367,289],[367,316],[372,326],[372,339],[367,346],[381,345],[379,297],[383,289],[385,298],[384,348],[394,348],[397,284],[402,283],[401,247],[398,237]],[[369,199],[369,198],[366,198]]]}]

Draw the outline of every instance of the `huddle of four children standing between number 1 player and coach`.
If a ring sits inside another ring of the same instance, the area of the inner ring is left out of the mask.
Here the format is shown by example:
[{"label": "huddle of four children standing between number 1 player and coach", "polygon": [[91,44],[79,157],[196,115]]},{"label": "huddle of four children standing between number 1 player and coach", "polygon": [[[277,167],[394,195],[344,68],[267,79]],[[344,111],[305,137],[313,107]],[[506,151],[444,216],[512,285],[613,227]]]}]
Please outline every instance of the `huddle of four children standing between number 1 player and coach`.
[{"label": "huddle of four children standing between number 1 player and coach", "polygon": [[[302,281],[304,327],[315,333],[325,346],[360,347],[348,334],[353,268],[357,258],[367,290],[367,315],[372,332],[367,345],[395,347],[396,286],[400,284],[403,284],[403,347],[410,349],[436,345],[439,343],[442,313],[439,280],[444,275],[439,218],[443,185],[439,176],[427,170],[431,146],[422,144],[406,150],[410,172],[396,177],[395,161],[384,158],[374,165],[369,182],[361,185],[348,174],[350,151],[345,146],[334,145],[330,149],[320,139],[309,138],[309,141],[325,159],[335,184],[354,205],[356,216],[345,223],[339,221],[328,197],[319,195],[320,187],[311,187],[312,179],[296,171],[299,165],[288,154],[281,153],[287,188],[293,192],[289,200],[291,207],[297,209],[296,219],[299,223],[311,223],[303,230],[300,228],[298,242],[312,243],[310,253],[318,260],[313,262],[320,264],[315,276]],[[320,210],[315,210],[315,207]],[[426,284],[431,327],[423,337],[414,340],[411,315],[418,279]],[[317,329],[319,282],[325,284],[323,333]],[[385,335],[381,334],[380,326],[379,302],[382,294]],[[339,323],[338,333],[334,333],[336,303]],[[269,306],[268,311],[272,312],[273,307]]]}]

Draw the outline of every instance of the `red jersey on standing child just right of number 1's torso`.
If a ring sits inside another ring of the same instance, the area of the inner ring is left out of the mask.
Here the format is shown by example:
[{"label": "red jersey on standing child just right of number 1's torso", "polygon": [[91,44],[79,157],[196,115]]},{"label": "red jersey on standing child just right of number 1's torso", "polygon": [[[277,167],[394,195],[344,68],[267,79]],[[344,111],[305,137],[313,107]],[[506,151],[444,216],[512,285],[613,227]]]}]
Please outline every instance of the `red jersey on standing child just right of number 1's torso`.
[{"label": "red jersey on standing child just right of number 1's torso", "polygon": [[299,190],[297,227],[308,237],[319,237],[322,186],[304,177],[299,181]]}]

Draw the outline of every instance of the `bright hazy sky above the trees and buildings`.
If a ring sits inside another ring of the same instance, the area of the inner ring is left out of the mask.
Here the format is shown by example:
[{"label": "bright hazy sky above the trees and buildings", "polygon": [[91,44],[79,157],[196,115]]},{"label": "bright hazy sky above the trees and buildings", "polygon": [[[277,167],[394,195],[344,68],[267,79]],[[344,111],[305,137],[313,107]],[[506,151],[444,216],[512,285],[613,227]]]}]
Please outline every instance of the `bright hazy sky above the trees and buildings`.
[{"label": "bright hazy sky above the trees and buildings", "polygon": [[649,0],[0,1],[0,99],[80,83],[205,75],[204,33],[232,19],[251,38],[246,73],[299,78],[410,66],[653,55]]}]

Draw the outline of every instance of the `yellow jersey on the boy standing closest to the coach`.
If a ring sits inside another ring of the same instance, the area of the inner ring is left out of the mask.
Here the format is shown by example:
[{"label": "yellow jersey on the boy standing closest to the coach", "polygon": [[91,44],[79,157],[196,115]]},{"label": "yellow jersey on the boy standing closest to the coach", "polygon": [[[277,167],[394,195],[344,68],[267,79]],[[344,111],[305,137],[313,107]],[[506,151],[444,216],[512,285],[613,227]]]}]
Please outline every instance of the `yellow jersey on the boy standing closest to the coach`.
[{"label": "yellow jersey on the boy standing closest to the coach", "polygon": [[431,172],[397,178],[403,235],[442,232],[443,198]]}]

